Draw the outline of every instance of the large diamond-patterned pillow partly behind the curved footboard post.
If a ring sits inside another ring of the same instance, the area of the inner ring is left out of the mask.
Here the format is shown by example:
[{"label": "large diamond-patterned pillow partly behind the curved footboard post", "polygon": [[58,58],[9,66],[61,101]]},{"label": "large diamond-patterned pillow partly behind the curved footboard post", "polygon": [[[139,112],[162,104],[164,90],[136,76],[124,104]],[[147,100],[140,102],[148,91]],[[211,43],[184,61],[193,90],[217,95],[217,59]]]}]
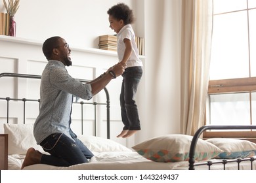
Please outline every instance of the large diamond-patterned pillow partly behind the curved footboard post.
[{"label": "large diamond-patterned pillow partly behind the curved footboard post", "polygon": [[[144,158],[157,162],[175,162],[187,161],[189,159],[190,144],[192,142],[190,135],[163,135],[149,139],[133,146]],[[222,152],[217,146],[198,139],[195,151],[195,160],[207,160],[215,158]]]}]

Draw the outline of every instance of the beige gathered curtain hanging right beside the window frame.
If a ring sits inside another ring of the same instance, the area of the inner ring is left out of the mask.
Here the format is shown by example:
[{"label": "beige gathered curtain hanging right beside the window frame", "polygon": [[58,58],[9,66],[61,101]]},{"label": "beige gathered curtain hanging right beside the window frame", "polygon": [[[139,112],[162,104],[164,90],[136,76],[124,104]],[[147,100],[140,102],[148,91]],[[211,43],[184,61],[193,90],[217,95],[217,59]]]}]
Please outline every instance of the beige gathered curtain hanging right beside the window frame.
[{"label": "beige gathered curtain hanging right beside the window frame", "polygon": [[212,0],[182,0],[181,133],[203,125],[209,78]]}]

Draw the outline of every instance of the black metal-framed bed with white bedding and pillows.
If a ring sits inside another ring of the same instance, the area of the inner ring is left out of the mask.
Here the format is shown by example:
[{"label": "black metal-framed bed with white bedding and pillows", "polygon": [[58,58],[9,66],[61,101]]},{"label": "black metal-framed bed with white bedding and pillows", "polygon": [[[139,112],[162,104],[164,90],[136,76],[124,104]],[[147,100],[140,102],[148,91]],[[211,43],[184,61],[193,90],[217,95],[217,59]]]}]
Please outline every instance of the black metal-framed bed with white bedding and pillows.
[{"label": "black metal-framed bed with white bedding and pillows", "polygon": [[[0,74],[0,79],[2,74]],[[7,73],[5,76],[40,78],[40,76],[18,75]],[[107,90],[106,90],[107,91]],[[108,95],[108,92],[106,92]],[[10,98],[0,96],[6,100]],[[15,99],[25,103],[30,99]],[[38,102],[38,100],[35,100]],[[109,101],[106,105],[106,115],[109,115]],[[28,148],[33,147],[45,153],[38,146],[33,137],[33,124],[10,124],[8,120],[3,124],[4,133],[8,134],[8,169],[20,170]],[[25,110],[23,106],[23,110]],[[82,118],[83,115],[81,115]],[[110,117],[107,117],[110,120]],[[25,119],[25,118],[24,118]],[[83,120],[81,120],[83,121]],[[222,170],[222,169],[256,169],[256,144],[240,139],[213,138],[200,139],[203,131],[211,129],[256,129],[255,125],[243,126],[211,126],[205,125],[198,129],[192,137],[182,134],[167,134],[154,137],[127,148],[112,141],[108,137],[96,137],[81,133],[78,138],[95,156],[89,163],[72,165],[70,167],[55,167],[52,165],[35,164],[25,167],[25,170]]]}]

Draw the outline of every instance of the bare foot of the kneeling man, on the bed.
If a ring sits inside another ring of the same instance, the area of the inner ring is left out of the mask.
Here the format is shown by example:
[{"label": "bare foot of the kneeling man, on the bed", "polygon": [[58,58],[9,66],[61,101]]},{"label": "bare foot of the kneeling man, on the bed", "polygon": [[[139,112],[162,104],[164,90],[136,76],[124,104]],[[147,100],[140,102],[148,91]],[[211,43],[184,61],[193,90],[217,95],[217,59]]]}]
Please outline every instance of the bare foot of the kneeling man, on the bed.
[{"label": "bare foot of the kneeling man, on the bed", "polygon": [[29,165],[40,163],[42,156],[43,154],[41,154],[41,152],[35,150],[34,148],[29,148],[21,169],[24,169],[24,167],[27,167]]}]

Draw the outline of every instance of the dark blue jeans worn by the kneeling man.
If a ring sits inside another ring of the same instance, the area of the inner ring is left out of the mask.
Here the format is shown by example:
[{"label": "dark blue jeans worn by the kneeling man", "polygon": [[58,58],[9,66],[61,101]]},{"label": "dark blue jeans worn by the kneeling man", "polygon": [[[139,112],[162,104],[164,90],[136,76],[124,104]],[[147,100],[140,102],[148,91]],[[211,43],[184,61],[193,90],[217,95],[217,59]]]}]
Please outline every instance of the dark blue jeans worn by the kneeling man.
[{"label": "dark blue jeans worn by the kneeling man", "polygon": [[44,154],[40,163],[57,167],[88,163],[87,159],[91,159],[93,153],[79,139],[74,140],[63,133],[49,135],[40,145],[51,155]]}]

